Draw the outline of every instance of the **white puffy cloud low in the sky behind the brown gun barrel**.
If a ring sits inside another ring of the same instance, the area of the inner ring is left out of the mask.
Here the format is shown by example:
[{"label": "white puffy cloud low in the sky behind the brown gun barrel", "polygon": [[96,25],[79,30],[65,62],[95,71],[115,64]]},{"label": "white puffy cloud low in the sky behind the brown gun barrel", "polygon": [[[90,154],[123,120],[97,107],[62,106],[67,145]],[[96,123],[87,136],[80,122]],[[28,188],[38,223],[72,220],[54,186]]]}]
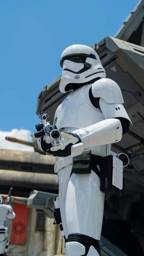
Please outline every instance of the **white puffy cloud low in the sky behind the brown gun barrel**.
[{"label": "white puffy cloud low in the sky behind the brown gun barrel", "polygon": [[22,151],[34,151],[33,147],[22,145],[19,143],[13,143],[5,140],[6,136],[16,137],[22,140],[32,141],[31,131],[24,129],[12,129],[11,131],[0,131],[0,148],[1,149],[14,149]]}]

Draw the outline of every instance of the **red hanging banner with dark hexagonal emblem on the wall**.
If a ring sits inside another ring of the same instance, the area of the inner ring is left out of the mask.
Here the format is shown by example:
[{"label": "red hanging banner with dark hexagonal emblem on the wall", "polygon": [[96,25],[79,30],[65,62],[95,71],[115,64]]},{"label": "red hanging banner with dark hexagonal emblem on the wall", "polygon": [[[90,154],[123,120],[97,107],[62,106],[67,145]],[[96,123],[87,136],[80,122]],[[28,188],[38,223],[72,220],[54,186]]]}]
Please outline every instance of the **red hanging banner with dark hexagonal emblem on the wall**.
[{"label": "red hanging banner with dark hexagonal emblem on the wall", "polygon": [[13,211],[15,212],[16,217],[13,219],[12,223],[10,242],[13,244],[24,245],[26,241],[29,208],[24,204],[15,203]]}]

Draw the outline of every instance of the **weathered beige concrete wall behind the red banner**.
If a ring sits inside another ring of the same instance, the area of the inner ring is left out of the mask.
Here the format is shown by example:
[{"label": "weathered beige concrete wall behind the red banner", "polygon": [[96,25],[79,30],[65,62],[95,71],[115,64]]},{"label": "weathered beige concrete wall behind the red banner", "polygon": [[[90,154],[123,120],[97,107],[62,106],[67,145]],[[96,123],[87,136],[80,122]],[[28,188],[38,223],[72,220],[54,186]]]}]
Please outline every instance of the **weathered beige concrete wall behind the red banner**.
[{"label": "weathered beige concrete wall behind the red banner", "polygon": [[[12,204],[13,206],[13,204]],[[7,249],[9,256],[53,256],[64,253],[64,239],[58,225],[53,225],[54,219],[46,216],[45,232],[35,231],[37,213],[29,209],[25,245],[10,244]],[[12,221],[9,221],[9,240]]]}]

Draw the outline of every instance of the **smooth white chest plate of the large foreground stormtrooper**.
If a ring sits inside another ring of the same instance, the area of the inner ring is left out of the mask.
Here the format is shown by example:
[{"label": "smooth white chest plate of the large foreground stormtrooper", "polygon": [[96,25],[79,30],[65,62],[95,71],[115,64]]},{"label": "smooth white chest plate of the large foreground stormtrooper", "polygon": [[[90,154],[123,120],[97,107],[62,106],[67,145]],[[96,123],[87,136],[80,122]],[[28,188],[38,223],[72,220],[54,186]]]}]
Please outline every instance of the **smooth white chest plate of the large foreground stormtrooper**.
[{"label": "smooth white chest plate of the large foreground stormtrooper", "polygon": [[65,98],[57,113],[56,126],[86,128],[104,120],[101,110],[95,108],[89,99],[92,84],[80,87]]}]

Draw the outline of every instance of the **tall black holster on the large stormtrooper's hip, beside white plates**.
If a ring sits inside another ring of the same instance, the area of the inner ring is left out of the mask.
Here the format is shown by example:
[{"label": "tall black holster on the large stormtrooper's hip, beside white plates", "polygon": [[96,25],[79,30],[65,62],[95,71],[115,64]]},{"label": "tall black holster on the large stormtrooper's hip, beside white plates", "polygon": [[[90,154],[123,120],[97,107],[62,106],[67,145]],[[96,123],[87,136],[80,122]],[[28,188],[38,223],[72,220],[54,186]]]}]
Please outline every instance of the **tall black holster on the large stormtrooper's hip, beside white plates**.
[{"label": "tall black holster on the large stormtrooper's hip, beside white plates", "polygon": [[113,180],[113,156],[107,155],[100,159],[101,169],[101,191],[107,195],[119,194],[119,188],[112,184]]}]

